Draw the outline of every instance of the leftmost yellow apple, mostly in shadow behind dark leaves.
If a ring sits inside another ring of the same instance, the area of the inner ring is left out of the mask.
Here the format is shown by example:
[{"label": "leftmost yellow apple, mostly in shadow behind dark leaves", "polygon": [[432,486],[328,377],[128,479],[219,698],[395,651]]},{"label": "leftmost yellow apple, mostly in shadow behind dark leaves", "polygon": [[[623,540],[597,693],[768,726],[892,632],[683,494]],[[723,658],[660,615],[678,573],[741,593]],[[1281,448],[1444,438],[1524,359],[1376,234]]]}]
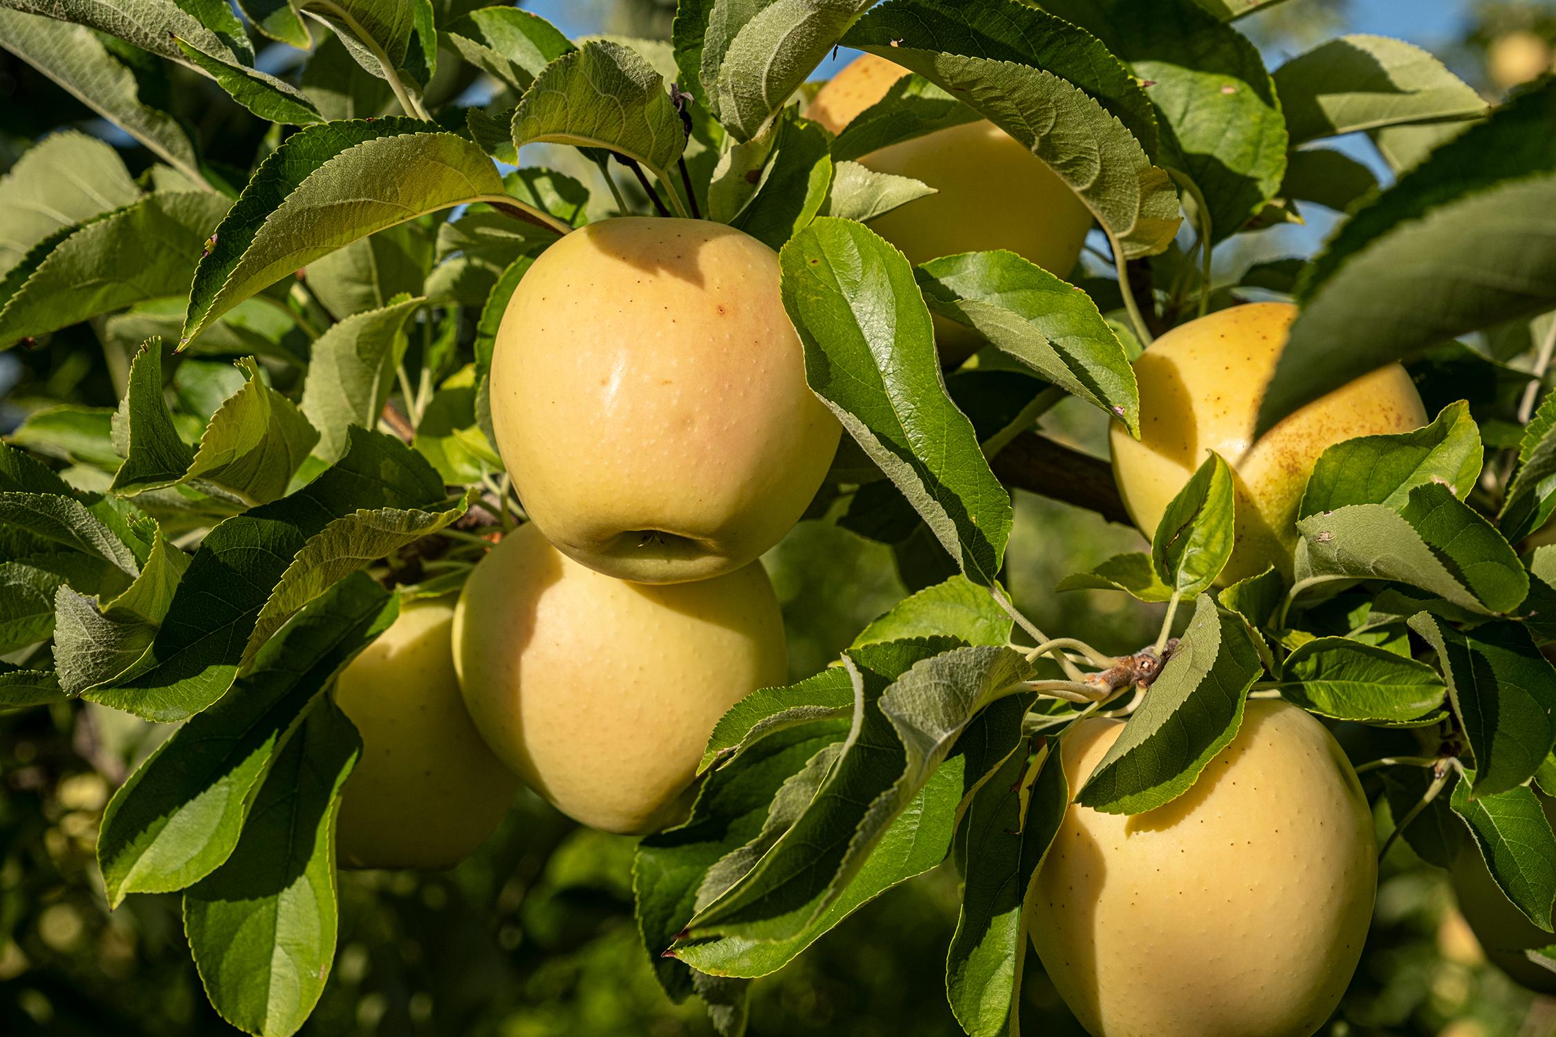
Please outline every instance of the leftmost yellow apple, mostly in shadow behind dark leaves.
[{"label": "leftmost yellow apple, mostly in shadow behind dark leaves", "polygon": [[518,779],[459,697],[453,623],[448,600],[401,605],[335,683],[335,701],[363,735],[336,829],[347,868],[451,868],[513,802]]}]

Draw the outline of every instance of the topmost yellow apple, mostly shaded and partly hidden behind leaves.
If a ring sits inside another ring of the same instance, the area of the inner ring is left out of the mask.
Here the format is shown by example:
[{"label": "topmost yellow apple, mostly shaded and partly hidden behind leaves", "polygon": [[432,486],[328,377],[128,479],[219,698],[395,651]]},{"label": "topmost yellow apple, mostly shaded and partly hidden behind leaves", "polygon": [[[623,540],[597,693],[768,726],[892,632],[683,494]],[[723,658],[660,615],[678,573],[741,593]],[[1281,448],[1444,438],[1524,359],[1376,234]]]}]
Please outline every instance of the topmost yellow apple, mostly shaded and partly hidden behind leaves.
[{"label": "topmost yellow apple, mostly shaded and partly hidden behind leaves", "polygon": [[[856,58],[811,100],[806,118],[842,132],[906,75],[907,68],[885,58]],[[870,222],[910,263],[1010,249],[1050,274],[1069,277],[1091,229],[1091,210],[1069,185],[988,120],[888,145],[859,162],[938,191]],[[979,340],[969,328],[940,319],[935,337],[941,350],[955,354]]]}]

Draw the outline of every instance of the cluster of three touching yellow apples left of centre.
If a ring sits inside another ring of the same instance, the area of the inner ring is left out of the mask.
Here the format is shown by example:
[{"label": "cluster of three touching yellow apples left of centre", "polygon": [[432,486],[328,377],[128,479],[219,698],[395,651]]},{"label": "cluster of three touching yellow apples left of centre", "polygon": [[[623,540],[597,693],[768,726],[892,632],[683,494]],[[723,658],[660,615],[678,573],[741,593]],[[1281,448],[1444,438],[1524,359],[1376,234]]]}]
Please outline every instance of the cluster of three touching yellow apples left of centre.
[{"label": "cluster of three touching yellow apples left of centre", "polygon": [[347,864],[453,864],[520,780],[605,832],[663,827],[719,717],[787,676],[758,557],[842,426],[806,387],[772,249],[691,219],[576,230],[513,292],[490,387],[529,521],[457,605],[409,605],[341,675],[364,743]]}]

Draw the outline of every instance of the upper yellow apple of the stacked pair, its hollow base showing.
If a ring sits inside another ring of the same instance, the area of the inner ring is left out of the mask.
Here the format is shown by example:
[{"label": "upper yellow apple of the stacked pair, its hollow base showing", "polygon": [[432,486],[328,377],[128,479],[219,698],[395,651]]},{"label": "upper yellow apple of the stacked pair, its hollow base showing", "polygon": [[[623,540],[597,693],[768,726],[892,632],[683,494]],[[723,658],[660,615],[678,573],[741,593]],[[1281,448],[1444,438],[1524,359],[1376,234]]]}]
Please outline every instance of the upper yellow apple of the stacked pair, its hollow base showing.
[{"label": "upper yellow apple of the stacked pair, its hollow base showing", "polygon": [[778,255],[702,219],[607,219],[535,260],[492,358],[529,518],[621,580],[734,572],[804,513],[842,426],[804,382]]}]

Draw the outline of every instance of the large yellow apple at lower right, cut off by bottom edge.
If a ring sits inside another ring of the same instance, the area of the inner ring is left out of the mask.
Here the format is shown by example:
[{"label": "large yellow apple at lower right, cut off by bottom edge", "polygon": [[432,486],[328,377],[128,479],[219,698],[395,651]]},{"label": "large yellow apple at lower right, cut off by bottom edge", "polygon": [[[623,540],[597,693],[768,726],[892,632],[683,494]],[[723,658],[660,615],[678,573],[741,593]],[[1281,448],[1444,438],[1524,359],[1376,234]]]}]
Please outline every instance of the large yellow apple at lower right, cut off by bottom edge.
[{"label": "large yellow apple at lower right, cut off by bottom edge", "polygon": [[[1064,738],[1072,794],[1120,731],[1092,718]],[[1307,1037],[1355,972],[1376,854],[1329,731],[1253,700],[1178,799],[1133,816],[1071,804],[1029,931],[1094,1037]]]}]

